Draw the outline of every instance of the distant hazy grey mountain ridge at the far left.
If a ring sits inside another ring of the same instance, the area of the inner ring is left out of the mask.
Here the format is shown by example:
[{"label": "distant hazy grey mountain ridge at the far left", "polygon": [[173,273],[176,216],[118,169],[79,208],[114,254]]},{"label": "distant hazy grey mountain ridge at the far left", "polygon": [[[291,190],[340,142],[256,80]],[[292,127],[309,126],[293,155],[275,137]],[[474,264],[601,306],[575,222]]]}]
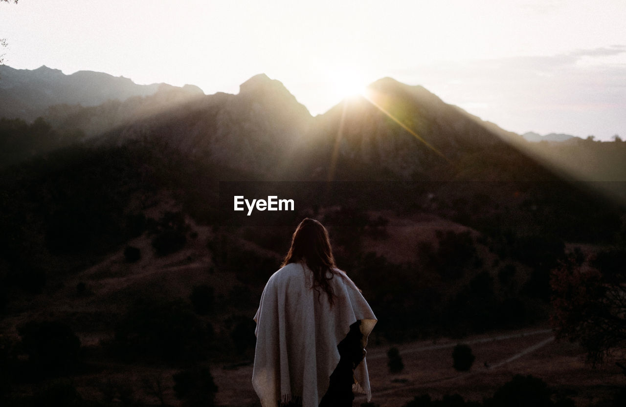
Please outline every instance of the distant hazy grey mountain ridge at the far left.
[{"label": "distant hazy grey mountain ridge at the far left", "polygon": [[110,74],[78,71],[71,75],[59,69],[14,69],[0,66],[0,117],[33,121],[56,104],[97,106],[109,100],[123,101],[132,96],[147,96],[158,89],[184,89],[203,94],[197,86],[177,88],[168,84],[138,85],[128,78]]}]

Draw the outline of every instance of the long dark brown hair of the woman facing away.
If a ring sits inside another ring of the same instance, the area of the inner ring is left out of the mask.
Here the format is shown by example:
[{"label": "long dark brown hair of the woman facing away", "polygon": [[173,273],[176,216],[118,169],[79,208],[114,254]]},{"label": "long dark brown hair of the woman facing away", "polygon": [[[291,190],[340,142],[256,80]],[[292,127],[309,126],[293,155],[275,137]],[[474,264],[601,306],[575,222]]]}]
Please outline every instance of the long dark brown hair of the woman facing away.
[{"label": "long dark brown hair of the woman facing away", "polygon": [[[291,239],[291,247],[282,266],[289,263],[304,262],[313,271],[313,288],[322,290],[328,294],[328,299],[333,303],[334,291],[329,281],[338,272],[335,258],[332,256],[331,239],[328,237],[326,228],[315,219],[304,218],[295,228]],[[331,276],[326,274],[331,271]]]}]

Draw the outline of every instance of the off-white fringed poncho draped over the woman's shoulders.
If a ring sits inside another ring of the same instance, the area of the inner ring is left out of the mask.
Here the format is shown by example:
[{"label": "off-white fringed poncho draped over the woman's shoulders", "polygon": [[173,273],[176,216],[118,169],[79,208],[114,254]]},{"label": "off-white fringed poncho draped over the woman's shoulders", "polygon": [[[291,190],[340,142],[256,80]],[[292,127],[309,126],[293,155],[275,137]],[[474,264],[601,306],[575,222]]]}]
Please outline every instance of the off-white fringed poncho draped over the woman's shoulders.
[{"label": "off-white fringed poncho draped over the woman's shoulders", "polygon": [[[327,294],[312,289],[313,273],[302,263],[290,263],[272,274],[261,296],[257,323],[257,347],[252,385],[263,407],[279,401],[302,400],[302,407],[317,407],[339,363],[337,344],[350,325],[361,321],[367,339],[376,324],[367,301],[343,271],[329,283]],[[330,274],[330,273],[329,273]],[[371,398],[365,358],[354,371],[357,393]]]}]

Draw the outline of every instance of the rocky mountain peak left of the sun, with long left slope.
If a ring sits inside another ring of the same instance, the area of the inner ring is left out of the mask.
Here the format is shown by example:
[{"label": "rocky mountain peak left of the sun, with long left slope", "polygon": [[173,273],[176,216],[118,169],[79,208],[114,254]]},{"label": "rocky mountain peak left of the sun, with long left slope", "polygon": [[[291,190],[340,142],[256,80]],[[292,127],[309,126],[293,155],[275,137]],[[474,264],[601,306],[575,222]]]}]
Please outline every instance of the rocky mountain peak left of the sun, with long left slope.
[{"label": "rocky mountain peak left of the sun, with long left slope", "polygon": [[241,84],[238,94],[183,99],[128,123],[100,142],[120,144],[147,135],[189,157],[280,179],[299,164],[290,154],[305,142],[314,119],[280,81],[259,74]]}]

